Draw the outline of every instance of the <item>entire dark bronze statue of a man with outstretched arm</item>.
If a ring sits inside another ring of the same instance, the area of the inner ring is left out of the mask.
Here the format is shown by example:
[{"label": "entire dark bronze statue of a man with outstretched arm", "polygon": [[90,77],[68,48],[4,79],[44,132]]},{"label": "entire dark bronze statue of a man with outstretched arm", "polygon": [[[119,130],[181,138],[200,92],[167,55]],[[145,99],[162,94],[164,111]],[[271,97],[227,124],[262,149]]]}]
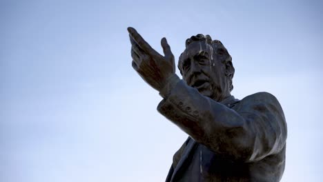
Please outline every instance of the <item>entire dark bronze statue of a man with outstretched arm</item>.
[{"label": "entire dark bronze statue of a man with outstretched arm", "polygon": [[128,32],[133,68],[164,98],[157,110],[189,135],[174,154],[166,181],[280,181],[284,112],[267,92],[242,100],[231,95],[235,69],[220,41],[203,34],[187,39],[179,79],[165,38],[162,56],[134,28]]}]

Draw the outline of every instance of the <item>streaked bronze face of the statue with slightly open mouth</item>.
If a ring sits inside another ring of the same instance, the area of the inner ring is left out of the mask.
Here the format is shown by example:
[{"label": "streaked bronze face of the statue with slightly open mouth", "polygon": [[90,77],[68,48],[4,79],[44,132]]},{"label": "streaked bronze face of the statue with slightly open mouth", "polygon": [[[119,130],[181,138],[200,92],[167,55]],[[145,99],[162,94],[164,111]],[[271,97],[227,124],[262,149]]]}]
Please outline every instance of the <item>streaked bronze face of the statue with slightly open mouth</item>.
[{"label": "streaked bronze face of the statue with slightly open mouth", "polygon": [[223,56],[204,41],[190,43],[181,56],[183,79],[204,96],[222,101],[230,90],[221,59]]}]

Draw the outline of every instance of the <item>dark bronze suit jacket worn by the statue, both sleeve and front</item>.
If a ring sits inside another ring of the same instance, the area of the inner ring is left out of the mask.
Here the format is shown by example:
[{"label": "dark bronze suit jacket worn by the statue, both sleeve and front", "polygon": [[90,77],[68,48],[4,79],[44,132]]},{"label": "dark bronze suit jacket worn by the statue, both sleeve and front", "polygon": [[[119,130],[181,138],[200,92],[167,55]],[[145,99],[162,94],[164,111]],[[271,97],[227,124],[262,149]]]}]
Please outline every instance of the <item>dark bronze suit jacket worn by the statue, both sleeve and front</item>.
[{"label": "dark bronze suit jacket worn by the statue, both sleeve and front", "polygon": [[287,128],[272,94],[219,103],[179,81],[157,110],[189,135],[166,181],[280,181]]}]

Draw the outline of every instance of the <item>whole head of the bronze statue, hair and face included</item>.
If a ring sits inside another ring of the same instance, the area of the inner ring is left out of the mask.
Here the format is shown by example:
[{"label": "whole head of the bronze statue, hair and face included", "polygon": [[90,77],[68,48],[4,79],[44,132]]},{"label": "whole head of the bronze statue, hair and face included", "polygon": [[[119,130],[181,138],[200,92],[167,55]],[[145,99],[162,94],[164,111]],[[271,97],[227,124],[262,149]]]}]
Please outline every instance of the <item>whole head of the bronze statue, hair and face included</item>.
[{"label": "whole head of the bronze statue, hair and face included", "polygon": [[209,35],[197,34],[186,40],[178,68],[188,85],[215,101],[222,101],[233,90],[232,58],[224,45]]}]

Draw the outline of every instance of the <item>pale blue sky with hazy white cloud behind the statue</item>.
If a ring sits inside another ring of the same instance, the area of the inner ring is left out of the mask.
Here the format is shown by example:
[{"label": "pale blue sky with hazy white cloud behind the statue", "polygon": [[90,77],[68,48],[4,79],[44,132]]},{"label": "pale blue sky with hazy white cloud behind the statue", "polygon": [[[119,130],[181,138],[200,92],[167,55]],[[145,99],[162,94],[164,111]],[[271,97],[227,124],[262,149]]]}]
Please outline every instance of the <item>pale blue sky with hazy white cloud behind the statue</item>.
[{"label": "pale blue sky with hazy white cloud behind the statue", "polygon": [[[322,1],[0,1],[0,181],[164,181],[187,138],[131,67],[126,28],[176,61],[210,34],[232,94],[271,92],[288,124],[282,181],[323,179]],[[177,72],[179,74],[179,72]]]}]

